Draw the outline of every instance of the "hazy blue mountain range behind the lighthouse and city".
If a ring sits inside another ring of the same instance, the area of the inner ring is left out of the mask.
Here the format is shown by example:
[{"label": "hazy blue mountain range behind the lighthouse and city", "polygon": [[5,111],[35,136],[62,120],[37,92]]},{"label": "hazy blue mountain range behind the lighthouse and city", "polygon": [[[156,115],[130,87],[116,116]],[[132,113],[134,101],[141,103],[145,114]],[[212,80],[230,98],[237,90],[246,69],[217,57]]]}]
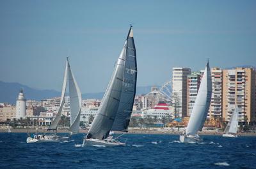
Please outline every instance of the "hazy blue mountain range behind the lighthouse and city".
[{"label": "hazy blue mountain range behind the lighthouse and city", "polygon": [[[24,94],[27,99],[41,100],[61,96],[61,92],[55,90],[34,89],[19,83],[0,81],[0,103],[15,104],[20,88],[24,89]],[[137,87],[136,94],[147,94],[150,90],[151,86]],[[82,94],[82,98],[102,99],[103,95],[104,92],[87,92]]]}]

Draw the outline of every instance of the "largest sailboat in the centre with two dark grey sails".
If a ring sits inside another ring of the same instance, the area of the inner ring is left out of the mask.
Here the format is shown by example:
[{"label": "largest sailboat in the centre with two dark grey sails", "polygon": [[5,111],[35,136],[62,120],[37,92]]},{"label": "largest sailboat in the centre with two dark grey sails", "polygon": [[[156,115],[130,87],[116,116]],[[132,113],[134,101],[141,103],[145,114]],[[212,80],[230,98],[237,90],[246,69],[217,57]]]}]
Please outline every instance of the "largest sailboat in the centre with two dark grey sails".
[{"label": "largest sailboat in the centre with two dark grey sails", "polygon": [[127,132],[131,119],[134,96],[136,93],[137,62],[132,26],[122,48],[122,52],[115,64],[115,70],[103,96],[99,110],[93,119],[84,145],[125,145],[113,136],[110,131]]}]

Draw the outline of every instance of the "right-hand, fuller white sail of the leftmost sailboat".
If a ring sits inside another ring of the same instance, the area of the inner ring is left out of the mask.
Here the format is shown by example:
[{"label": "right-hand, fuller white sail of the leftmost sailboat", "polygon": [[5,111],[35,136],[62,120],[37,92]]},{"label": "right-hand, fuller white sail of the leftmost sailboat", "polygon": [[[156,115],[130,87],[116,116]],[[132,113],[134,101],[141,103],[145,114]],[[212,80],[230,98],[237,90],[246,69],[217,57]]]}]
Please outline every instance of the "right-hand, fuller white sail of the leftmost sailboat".
[{"label": "right-hand, fuller white sail of the leftmost sailboat", "polygon": [[[68,60],[67,60],[68,62]],[[68,62],[68,86],[69,86],[69,97],[70,97],[70,128],[69,131],[72,133],[79,132],[82,96],[80,89],[77,85],[76,79],[70,68]]]}]

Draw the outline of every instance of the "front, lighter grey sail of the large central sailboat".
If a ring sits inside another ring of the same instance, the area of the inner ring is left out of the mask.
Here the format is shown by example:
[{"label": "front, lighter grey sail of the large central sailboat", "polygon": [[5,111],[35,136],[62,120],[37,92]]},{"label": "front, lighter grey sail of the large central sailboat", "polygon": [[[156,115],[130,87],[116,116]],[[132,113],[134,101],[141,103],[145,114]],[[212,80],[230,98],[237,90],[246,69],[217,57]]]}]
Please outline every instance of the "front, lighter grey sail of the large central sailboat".
[{"label": "front, lighter grey sail of the large central sailboat", "polygon": [[125,41],[122,52],[116,62],[115,70],[108,84],[108,88],[92,122],[92,126],[86,135],[86,139],[97,138],[104,140],[109,136],[109,131],[111,131],[115,121],[122,94],[126,49],[127,41]]}]

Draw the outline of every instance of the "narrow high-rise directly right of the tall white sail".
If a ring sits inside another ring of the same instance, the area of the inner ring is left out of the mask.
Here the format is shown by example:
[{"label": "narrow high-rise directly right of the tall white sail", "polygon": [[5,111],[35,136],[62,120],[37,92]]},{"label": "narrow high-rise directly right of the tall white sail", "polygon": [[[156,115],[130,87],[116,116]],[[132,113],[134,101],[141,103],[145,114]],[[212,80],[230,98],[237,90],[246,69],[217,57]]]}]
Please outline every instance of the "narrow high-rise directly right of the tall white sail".
[{"label": "narrow high-rise directly right of the tall white sail", "polygon": [[209,117],[222,116],[222,80],[223,71],[220,68],[212,68],[212,98],[209,108]]}]

